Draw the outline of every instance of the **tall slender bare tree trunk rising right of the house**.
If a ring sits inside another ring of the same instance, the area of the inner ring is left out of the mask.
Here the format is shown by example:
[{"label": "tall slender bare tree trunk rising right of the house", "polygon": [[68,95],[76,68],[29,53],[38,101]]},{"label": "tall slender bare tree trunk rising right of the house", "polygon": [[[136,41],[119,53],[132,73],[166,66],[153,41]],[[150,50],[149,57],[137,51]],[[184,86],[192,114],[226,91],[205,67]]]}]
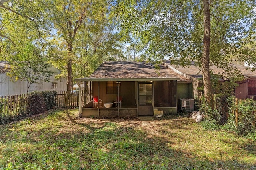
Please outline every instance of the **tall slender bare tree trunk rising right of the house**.
[{"label": "tall slender bare tree trunk rising right of the house", "polygon": [[212,85],[210,78],[210,4],[209,0],[203,0],[204,4],[204,50],[202,55],[202,72],[203,72],[203,82],[204,82],[204,96],[206,100],[210,103],[212,109],[213,98],[212,98]]}]

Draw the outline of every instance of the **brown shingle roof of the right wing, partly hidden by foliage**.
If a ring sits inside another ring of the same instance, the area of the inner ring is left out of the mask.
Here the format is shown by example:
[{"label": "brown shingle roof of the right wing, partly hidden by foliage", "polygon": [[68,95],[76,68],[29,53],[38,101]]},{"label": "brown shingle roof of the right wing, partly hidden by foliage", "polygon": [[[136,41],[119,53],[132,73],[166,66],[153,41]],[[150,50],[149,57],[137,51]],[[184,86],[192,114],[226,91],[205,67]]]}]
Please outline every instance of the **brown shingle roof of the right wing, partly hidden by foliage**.
[{"label": "brown shingle roof of the right wing, partly hidden by foliage", "polygon": [[[198,67],[195,66],[195,63],[191,61],[191,65],[189,68],[184,68],[182,66],[176,66],[174,64],[171,64],[171,61],[166,61],[165,63],[169,64],[179,72],[182,72],[183,74],[186,74],[188,76],[191,76],[193,78],[202,78],[202,71],[198,73]],[[250,70],[246,70],[246,66],[242,66],[239,64],[232,64],[234,67],[236,67],[240,72],[244,75],[245,78],[256,78],[256,71],[252,72]],[[217,66],[210,66],[210,69],[214,72],[214,74],[222,74],[224,70],[222,68],[218,68]]]}]

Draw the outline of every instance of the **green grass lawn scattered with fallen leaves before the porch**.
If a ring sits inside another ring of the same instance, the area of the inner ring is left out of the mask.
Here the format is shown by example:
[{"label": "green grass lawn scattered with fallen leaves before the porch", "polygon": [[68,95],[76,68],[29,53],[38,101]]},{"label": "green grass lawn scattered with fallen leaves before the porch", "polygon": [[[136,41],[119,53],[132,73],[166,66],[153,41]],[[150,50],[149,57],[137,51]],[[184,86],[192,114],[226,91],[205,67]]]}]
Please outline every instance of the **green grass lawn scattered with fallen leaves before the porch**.
[{"label": "green grass lawn scattered with fallen leaves before the porch", "polygon": [[0,167],[7,164],[9,169],[252,170],[256,143],[204,130],[188,118],[79,119],[78,110],[55,110],[0,126]]}]

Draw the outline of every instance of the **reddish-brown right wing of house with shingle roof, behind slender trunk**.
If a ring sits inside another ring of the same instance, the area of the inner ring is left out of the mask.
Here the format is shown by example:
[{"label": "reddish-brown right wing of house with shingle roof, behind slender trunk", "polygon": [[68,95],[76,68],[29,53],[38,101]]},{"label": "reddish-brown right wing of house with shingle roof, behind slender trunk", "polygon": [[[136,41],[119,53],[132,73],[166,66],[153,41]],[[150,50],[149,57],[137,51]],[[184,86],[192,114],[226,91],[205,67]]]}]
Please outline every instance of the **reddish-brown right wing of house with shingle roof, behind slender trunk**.
[{"label": "reddish-brown right wing of house with shingle roof, behind slender trunk", "polygon": [[[174,61],[175,62],[175,61]],[[194,61],[191,61],[191,64],[189,68],[177,66],[173,63],[173,61],[166,61],[164,62],[168,68],[172,69],[174,72],[186,76],[186,78],[192,80],[191,83],[183,82],[184,84],[187,84],[188,90],[192,93],[188,93],[190,98],[196,98],[198,96],[198,87],[203,85],[202,82],[202,71],[198,73],[198,67],[195,66]],[[240,82],[236,82],[238,84],[238,87],[234,89],[234,95],[238,99],[245,99],[245,98],[256,98],[256,72],[252,72],[250,70],[247,70],[247,66],[239,65],[239,64],[233,64],[234,67],[236,67],[242,75],[244,76],[244,79]],[[218,68],[217,66],[210,66],[210,69],[213,71],[214,74],[222,74],[224,71],[221,68]],[[228,78],[220,78],[219,82],[227,81]],[[180,83],[182,83],[182,80],[180,80]]]}]

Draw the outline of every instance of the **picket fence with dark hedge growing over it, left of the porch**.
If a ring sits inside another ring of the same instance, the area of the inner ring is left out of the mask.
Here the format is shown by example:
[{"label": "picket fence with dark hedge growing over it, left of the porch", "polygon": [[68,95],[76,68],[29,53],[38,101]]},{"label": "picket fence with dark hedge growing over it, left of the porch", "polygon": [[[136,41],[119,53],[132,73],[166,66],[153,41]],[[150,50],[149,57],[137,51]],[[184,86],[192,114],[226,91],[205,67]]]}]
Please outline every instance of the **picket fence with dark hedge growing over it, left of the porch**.
[{"label": "picket fence with dark hedge growing over it, left of the porch", "polygon": [[[84,103],[83,94],[82,104]],[[78,92],[30,92],[14,96],[0,97],[0,124],[16,121],[52,109],[78,107]]]}]

